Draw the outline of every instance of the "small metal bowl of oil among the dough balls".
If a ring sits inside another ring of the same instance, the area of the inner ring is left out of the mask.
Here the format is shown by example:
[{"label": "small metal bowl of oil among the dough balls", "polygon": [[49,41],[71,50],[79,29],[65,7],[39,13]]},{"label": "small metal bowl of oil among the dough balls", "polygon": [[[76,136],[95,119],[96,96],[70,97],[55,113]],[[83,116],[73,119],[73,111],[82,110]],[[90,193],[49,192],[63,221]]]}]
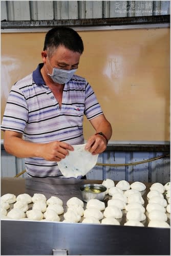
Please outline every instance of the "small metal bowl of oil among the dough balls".
[{"label": "small metal bowl of oil among the dough balls", "polygon": [[101,184],[86,184],[80,187],[82,200],[88,202],[90,199],[103,201],[106,195],[106,187]]}]

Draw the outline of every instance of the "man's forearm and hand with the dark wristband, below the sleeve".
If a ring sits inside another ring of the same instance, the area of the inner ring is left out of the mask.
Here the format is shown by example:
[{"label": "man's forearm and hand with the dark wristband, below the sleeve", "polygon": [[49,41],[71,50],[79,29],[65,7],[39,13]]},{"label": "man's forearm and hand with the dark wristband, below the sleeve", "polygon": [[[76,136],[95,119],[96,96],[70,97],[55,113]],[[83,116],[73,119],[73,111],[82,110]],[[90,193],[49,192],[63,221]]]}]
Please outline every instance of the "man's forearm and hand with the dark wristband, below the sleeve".
[{"label": "man's forearm and hand with the dark wristband, below the sleeve", "polygon": [[[90,120],[96,133],[102,132],[109,140],[112,136],[112,127],[105,116],[99,115]],[[106,139],[102,135],[92,135],[87,142],[86,149],[93,155],[102,153],[106,149]]]}]

